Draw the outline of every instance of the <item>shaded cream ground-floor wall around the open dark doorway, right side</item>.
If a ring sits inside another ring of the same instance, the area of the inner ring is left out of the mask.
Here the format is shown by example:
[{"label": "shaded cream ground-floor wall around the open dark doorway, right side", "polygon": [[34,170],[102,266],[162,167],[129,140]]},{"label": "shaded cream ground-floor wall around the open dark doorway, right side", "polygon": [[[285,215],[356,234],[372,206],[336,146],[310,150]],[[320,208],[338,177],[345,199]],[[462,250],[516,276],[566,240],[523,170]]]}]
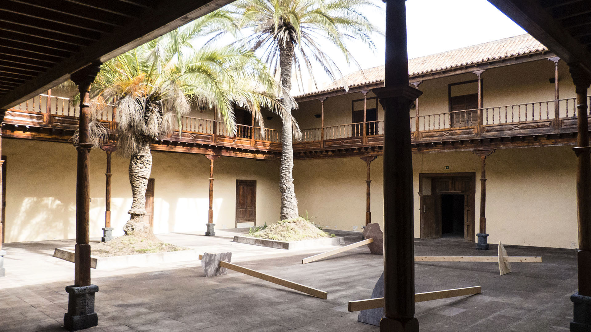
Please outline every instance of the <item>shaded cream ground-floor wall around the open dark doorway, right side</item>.
[{"label": "shaded cream ground-floor wall around the open dark doorway, right side", "polygon": [[[372,220],[383,226],[382,162],[372,170]],[[487,158],[489,243],[577,247],[576,158],[570,147],[502,149]],[[449,166],[449,170],[444,170]],[[480,158],[471,152],[413,155],[414,233],[420,236],[420,173],[475,172],[475,220],[480,206]],[[365,223],[365,162],[359,158],[298,160],[294,168],[300,212],[328,228],[361,230]],[[478,230],[478,229],[477,229]]]}]

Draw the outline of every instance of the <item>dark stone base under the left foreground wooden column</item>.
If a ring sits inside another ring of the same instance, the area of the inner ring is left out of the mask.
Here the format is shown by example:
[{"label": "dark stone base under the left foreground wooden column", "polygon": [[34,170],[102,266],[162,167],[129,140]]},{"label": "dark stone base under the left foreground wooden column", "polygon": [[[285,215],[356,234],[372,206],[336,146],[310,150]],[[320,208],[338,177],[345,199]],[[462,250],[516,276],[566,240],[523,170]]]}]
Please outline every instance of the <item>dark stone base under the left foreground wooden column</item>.
[{"label": "dark stone base under the left foreground wooden column", "polygon": [[64,327],[68,331],[82,330],[97,326],[99,317],[95,313],[96,285],[75,287],[66,286],[68,292],[68,312],[64,314]]}]

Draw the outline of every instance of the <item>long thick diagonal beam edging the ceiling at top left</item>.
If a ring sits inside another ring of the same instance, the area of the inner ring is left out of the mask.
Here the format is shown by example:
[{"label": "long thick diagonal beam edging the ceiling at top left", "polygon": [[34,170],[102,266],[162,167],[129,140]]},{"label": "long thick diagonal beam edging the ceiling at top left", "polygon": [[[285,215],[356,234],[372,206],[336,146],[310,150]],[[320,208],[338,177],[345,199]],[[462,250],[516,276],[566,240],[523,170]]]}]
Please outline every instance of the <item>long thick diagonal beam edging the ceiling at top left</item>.
[{"label": "long thick diagonal beam edging the ceiling at top left", "polygon": [[[53,4],[53,2],[47,3]],[[132,50],[230,2],[232,0],[176,0],[174,5],[171,5],[169,0],[154,1],[154,8],[136,11],[141,15],[126,20],[125,27],[116,30],[113,34],[103,34],[100,41],[81,48],[72,57],[2,96],[0,109],[8,109],[51,89],[69,79],[70,73],[82,69],[93,61],[111,60],[119,54]]]}]

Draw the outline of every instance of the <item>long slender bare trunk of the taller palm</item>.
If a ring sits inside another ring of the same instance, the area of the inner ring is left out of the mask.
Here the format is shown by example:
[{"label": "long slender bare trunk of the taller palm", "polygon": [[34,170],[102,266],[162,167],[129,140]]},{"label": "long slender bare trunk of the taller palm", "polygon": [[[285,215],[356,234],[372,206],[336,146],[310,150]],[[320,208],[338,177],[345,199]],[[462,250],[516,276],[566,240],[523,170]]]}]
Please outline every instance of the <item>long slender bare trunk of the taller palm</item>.
[{"label": "long slender bare trunk of the taller palm", "polygon": [[[280,48],[279,61],[281,66],[281,86],[284,94],[291,90],[291,67],[294,61],[294,45],[285,44]],[[291,102],[289,96],[284,96],[283,105],[286,112],[291,114]],[[281,192],[281,220],[298,217],[296,189],[294,188],[293,168],[293,132],[291,118],[283,117],[281,127],[281,163],[279,167],[279,191]]]}]

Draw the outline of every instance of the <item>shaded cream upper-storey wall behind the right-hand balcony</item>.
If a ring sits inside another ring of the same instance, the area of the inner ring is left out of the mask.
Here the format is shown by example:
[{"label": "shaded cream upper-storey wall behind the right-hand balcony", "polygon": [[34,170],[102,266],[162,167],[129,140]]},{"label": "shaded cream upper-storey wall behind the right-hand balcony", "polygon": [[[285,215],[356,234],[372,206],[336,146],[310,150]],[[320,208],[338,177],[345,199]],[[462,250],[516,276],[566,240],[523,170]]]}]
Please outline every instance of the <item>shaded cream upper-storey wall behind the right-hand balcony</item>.
[{"label": "shaded cream upper-storey wall behind the right-hand balcony", "polygon": [[[483,107],[488,108],[554,100],[554,84],[548,81],[548,79],[553,77],[554,63],[548,60],[537,60],[486,70],[482,74]],[[448,84],[475,79],[475,74],[466,73],[441,77],[440,79],[423,80],[423,83],[419,86],[419,89],[423,91],[423,95],[419,97],[420,115],[448,112]],[[564,61],[558,63],[558,84],[561,99],[575,96],[569,68]],[[462,89],[462,86],[455,86],[453,87],[453,95],[478,92],[476,84],[468,84],[467,86],[474,87],[473,91],[469,92],[466,89]],[[368,97],[373,96],[375,96],[373,93],[368,93]],[[351,123],[351,101],[362,98],[362,93],[348,93],[346,95],[327,98],[324,102],[324,126]],[[550,105],[550,108],[552,107]],[[551,112],[553,112],[553,109],[551,109]],[[303,129],[320,128],[320,119],[315,118],[314,114],[320,114],[319,100],[301,102],[300,108],[294,111],[294,115]],[[411,109],[410,115],[415,115],[415,109]],[[384,119],[384,112],[381,106],[378,109],[378,119]]]}]

